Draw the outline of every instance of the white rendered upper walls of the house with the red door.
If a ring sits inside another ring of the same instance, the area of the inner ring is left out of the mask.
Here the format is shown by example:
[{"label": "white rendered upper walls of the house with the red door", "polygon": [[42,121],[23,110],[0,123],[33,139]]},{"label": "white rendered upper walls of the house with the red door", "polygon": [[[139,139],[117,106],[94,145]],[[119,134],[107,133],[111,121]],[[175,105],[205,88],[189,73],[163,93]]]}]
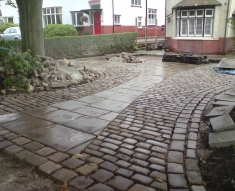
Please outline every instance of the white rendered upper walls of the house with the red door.
[{"label": "white rendered upper walls of the house with the red door", "polygon": [[[14,0],[13,0],[14,1]],[[114,14],[121,15],[122,26],[135,25],[135,18],[142,17],[142,26],[145,25],[146,16],[146,0],[142,0],[141,7],[131,7],[131,0],[113,0],[114,1]],[[80,11],[81,9],[90,9],[88,0],[44,0],[44,7],[62,7],[62,22],[63,24],[72,24],[70,11]],[[112,13],[112,0],[100,0],[102,11],[101,24],[112,26],[113,13]],[[157,9],[158,25],[165,24],[165,1],[163,0],[148,0],[148,8]],[[18,9],[11,6],[6,6],[5,1],[1,1],[2,15],[13,16],[14,23],[19,23]],[[89,18],[89,17],[88,17]],[[84,23],[84,25],[89,25]]]}]

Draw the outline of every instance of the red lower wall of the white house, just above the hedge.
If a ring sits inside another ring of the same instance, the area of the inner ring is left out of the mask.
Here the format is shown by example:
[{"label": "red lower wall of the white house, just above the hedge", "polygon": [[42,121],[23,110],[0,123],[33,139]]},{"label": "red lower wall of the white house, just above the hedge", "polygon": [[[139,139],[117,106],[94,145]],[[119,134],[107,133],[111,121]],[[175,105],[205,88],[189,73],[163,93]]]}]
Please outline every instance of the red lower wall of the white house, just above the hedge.
[{"label": "red lower wall of the white house, just above the hedge", "polygon": [[[78,30],[78,35],[83,35],[84,31],[87,30],[90,32],[90,34],[93,34],[93,26],[85,26],[84,28],[79,28]],[[114,26],[114,33],[123,33],[123,32],[135,32],[135,26]],[[147,30],[147,36],[155,36],[155,27],[154,26],[148,26]],[[102,34],[111,34],[113,33],[113,26],[101,26],[101,33]],[[138,36],[139,37],[144,37],[145,34],[145,29],[140,28],[138,29]],[[164,28],[161,26],[158,26],[158,31],[157,31],[158,36],[163,37],[165,34]]]}]

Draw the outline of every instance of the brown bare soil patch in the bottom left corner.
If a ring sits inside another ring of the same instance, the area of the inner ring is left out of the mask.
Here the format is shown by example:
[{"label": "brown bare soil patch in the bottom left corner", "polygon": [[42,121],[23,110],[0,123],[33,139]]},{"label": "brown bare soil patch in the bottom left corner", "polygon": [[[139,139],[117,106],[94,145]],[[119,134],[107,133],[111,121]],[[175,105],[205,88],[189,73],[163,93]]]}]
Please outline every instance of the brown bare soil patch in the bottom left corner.
[{"label": "brown bare soil patch in the bottom left corner", "polygon": [[60,185],[33,167],[0,153],[0,191],[61,191]]}]

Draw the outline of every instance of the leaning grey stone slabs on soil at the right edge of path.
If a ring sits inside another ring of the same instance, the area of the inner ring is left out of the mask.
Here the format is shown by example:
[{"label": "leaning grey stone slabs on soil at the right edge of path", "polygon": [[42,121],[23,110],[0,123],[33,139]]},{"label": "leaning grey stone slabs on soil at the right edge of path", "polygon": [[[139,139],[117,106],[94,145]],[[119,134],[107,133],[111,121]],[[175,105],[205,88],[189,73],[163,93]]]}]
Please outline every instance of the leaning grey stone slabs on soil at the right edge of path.
[{"label": "leaning grey stone slabs on soil at the right edge of path", "polygon": [[214,108],[206,115],[213,129],[209,134],[210,147],[235,145],[234,103],[235,89],[216,96]]}]

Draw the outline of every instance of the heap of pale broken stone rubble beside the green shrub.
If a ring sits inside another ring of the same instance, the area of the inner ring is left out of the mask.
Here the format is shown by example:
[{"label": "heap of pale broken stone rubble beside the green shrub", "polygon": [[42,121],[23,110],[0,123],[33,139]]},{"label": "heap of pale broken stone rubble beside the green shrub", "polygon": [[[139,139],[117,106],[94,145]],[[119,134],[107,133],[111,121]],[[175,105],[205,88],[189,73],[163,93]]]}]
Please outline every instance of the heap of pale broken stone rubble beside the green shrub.
[{"label": "heap of pale broken stone rubble beside the green shrub", "polygon": [[[1,72],[0,72],[1,73]],[[14,75],[14,71],[7,74],[1,73],[0,80],[5,75]],[[71,85],[89,83],[100,77],[100,73],[87,68],[76,61],[53,60],[47,58],[43,62],[43,68],[39,72],[34,72],[29,80],[30,87],[28,92],[49,91],[54,88],[65,88]],[[15,89],[9,90],[16,91]],[[6,94],[5,90],[1,90],[2,94]]]}]

